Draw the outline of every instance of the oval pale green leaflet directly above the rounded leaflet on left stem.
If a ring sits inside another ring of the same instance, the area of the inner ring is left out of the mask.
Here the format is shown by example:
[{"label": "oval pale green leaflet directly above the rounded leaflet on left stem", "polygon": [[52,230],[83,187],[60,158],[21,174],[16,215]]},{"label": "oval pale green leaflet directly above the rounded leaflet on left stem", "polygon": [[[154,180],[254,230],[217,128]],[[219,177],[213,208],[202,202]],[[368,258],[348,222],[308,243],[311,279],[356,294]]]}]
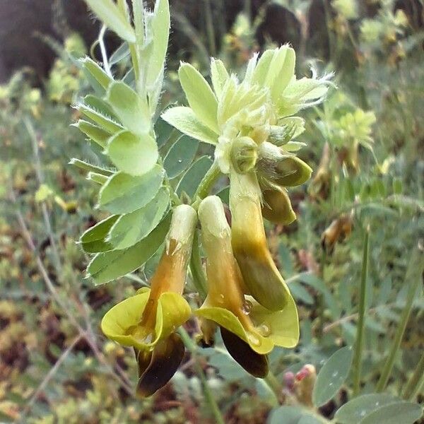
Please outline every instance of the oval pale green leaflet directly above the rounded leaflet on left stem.
[{"label": "oval pale green leaflet directly above the rounded leaflet on left stem", "polygon": [[126,83],[117,81],[107,90],[107,102],[122,124],[134,134],[146,134],[151,129],[151,115],[145,100]]}]

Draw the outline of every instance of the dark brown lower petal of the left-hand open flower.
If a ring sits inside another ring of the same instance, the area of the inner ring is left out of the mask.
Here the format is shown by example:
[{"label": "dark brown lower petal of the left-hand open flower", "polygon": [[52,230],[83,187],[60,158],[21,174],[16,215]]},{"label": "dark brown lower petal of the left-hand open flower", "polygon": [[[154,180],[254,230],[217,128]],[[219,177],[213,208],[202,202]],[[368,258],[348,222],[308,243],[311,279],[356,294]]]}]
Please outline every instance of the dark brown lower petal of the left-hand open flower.
[{"label": "dark brown lower petal of the left-hand open flower", "polygon": [[178,334],[172,333],[169,337],[158,341],[148,367],[139,378],[137,394],[146,398],[165,386],[178,370],[182,358],[184,358],[184,343]]}]

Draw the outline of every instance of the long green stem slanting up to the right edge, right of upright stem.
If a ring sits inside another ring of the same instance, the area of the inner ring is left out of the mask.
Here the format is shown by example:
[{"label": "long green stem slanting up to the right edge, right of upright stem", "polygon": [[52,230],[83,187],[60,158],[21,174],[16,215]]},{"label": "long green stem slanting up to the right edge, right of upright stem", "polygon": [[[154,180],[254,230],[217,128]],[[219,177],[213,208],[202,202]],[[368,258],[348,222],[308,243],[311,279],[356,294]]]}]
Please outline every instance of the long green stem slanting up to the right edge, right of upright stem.
[{"label": "long green stem slanting up to the right edge, right of upright stem", "polygon": [[423,261],[423,252],[420,252],[420,249],[416,248],[411,255],[411,260],[408,264],[408,269],[406,270],[405,281],[408,283],[408,294],[406,295],[406,304],[404,309],[402,310],[401,319],[399,321],[399,326],[396,330],[396,335],[394,336],[394,341],[391,346],[389,356],[387,357],[386,362],[384,363],[384,367],[382,370],[382,374],[379,377],[377,382],[376,391],[383,391],[387,382],[389,381],[389,377],[391,374],[391,370],[393,369],[394,360],[396,358],[396,353],[399,351],[401,346],[402,338],[404,337],[406,324],[408,324],[409,315],[411,314],[413,300],[417,293],[418,286],[421,283],[421,274],[424,269],[424,261]]}]

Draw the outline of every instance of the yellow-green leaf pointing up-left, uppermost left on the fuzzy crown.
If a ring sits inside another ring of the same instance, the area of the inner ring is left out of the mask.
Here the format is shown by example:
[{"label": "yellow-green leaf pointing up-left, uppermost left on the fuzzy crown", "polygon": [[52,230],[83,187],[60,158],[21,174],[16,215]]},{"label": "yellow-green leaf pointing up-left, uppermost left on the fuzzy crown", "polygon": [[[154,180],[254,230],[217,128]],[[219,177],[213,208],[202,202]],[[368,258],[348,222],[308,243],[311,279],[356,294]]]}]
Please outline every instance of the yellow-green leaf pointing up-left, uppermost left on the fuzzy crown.
[{"label": "yellow-green leaf pointing up-left, uppermost left on the fuzzy crown", "polygon": [[216,113],[218,101],[201,73],[190,64],[181,64],[179,82],[196,117],[211,130],[219,134]]}]

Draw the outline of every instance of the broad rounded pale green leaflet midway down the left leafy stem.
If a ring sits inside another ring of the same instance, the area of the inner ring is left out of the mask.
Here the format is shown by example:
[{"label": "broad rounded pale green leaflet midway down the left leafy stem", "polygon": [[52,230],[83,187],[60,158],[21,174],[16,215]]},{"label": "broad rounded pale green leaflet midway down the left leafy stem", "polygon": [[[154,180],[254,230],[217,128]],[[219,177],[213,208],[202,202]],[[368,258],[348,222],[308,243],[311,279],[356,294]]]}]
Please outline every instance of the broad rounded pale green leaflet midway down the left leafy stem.
[{"label": "broad rounded pale green leaflet midway down the left leafy stem", "polygon": [[130,131],[121,131],[107,143],[110,160],[121,171],[129,175],[143,175],[158,161],[158,146],[148,134],[136,136]]}]

